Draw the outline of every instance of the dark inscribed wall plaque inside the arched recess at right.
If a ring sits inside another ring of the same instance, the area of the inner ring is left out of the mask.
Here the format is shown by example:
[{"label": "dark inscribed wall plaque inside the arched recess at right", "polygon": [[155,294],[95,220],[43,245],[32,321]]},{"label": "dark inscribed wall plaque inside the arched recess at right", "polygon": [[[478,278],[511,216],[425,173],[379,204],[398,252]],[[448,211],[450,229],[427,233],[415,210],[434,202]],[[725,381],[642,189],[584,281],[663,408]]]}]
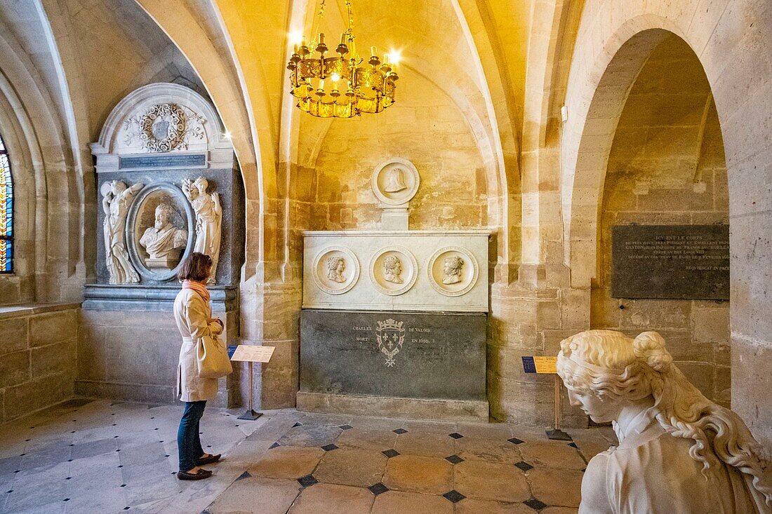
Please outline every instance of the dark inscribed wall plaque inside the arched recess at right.
[{"label": "dark inscribed wall plaque inside the arched recess at right", "polygon": [[614,298],[729,299],[729,225],[616,225]]}]

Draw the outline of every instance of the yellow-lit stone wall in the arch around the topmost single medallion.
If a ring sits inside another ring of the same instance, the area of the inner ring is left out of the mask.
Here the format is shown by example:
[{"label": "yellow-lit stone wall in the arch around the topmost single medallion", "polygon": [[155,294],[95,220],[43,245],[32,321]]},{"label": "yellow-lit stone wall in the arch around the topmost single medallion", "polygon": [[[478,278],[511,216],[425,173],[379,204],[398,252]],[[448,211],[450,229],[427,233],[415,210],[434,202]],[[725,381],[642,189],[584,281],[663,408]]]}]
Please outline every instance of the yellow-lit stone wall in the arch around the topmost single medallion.
[{"label": "yellow-lit stone wall in the arch around the topmost single medallion", "polygon": [[411,229],[487,225],[482,157],[459,107],[417,73],[399,84],[398,94],[401,100],[378,117],[330,126],[310,184],[311,230],[380,227],[371,176],[391,157],[412,161],[421,175],[410,204]]}]

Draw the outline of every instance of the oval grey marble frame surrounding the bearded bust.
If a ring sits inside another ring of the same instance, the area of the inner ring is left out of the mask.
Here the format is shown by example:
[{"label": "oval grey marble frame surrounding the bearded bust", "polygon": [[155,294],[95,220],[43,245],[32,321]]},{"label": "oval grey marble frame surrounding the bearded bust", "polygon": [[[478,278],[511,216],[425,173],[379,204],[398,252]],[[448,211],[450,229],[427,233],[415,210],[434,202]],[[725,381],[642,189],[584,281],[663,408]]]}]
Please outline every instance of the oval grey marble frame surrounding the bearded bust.
[{"label": "oval grey marble frame surrounding the bearded bust", "polygon": [[[174,267],[174,269],[170,269],[168,272],[163,273],[154,272],[152,269],[149,269],[146,265],[144,265],[143,259],[141,259],[139,250],[137,249],[137,239],[134,237],[134,224],[137,222],[137,212],[139,211],[144,201],[147,200],[147,197],[156,191],[165,191],[176,198],[183,206],[183,208],[185,208],[185,218],[188,220],[188,242],[185,245],[185,250],[182,252],[180,262]],[[131,202],[126,218],[126,246],[129,252],[129,259],[131,259],[131,263],[134,265],[134,269],[139,272],[142,278],[155,280],[157,282],[168,282],[169,280],[174,279],[174,277],[177,276],[177,272],[180,269],[182,261],[184,261],[185,258],[187,258],[191,252],[193,252],[194,237],[195,212],[193,211],[193,206],[188,201],[188,198],[185,198],[185,194],[182,192],[182,190],[174,184],[171,184],[171,182],[157,182],[155,184],[147,185],[142,188],[142,190],[137,194],[136,198],[134,198],[134,201]]]}]

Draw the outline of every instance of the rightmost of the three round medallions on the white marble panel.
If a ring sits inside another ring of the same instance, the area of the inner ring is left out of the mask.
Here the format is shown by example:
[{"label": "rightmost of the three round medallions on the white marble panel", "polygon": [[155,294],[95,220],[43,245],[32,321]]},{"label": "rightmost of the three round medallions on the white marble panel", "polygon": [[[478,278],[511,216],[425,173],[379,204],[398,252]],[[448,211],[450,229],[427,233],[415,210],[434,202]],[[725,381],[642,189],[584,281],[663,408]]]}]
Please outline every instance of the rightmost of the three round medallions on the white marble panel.
[{"label": "rightmost of the three round medallions on the white marble panel", "polygon": [[475,256],[459,246],[448,246],[435,252],[426,271],[432,287],[445,296],[468,293],[477,282],[479,272]]}]

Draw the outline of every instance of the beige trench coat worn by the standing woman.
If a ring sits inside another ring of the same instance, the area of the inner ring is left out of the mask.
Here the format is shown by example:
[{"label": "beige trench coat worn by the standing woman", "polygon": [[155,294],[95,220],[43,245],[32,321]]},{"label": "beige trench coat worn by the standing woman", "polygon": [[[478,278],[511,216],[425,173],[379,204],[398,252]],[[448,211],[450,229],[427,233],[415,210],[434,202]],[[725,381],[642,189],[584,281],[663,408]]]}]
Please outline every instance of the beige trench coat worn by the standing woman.
[{"label": "beige trench coat worn by the standing woman", "polygon": [[182,336],[177,368],[177,395],[181,401],[212,400],[217,396],[217,379],[198,376],[196,348],[204,336],[222,333],[212,319],[212,308],[192,289],[182,289],[174,299],[174,321]]}]

